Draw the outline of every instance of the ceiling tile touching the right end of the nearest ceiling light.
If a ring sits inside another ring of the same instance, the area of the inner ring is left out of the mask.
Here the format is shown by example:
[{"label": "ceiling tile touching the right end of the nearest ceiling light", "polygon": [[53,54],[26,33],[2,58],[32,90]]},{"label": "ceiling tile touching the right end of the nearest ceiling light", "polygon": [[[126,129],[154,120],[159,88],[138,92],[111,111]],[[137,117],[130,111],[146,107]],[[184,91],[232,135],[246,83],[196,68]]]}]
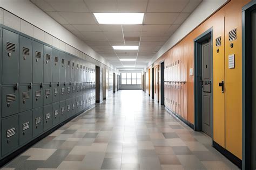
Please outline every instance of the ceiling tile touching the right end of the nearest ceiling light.
[{"label": "ceiling tile touching the right end of the nearest ceiling light", "polygon": [[144,24],[171,25],[179,13],[146,13]]}]

